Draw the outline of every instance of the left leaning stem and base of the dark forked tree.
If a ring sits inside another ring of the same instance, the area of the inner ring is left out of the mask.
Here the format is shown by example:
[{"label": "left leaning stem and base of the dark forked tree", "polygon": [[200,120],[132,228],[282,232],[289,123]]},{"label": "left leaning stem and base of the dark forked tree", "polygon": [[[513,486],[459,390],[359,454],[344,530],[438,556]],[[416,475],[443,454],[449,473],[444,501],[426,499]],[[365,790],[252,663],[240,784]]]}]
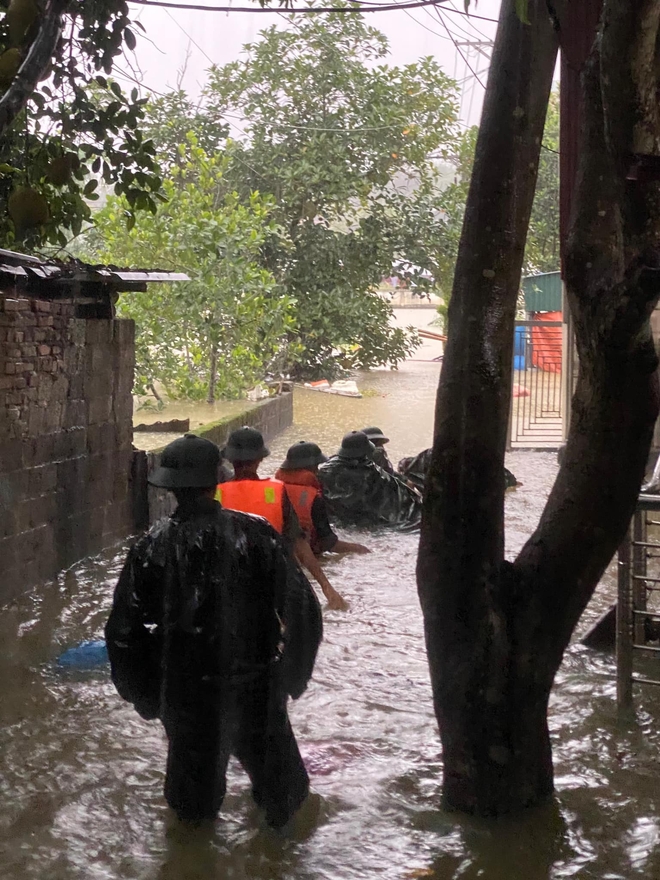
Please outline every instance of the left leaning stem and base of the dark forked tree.
[{"label": "left leaning stem and base of the dark forked tree", "polygon": [[552,789],[547,693],[530,705],[529,663],[512,665],[517,590],[503,566],[513,329],[558,50],[545,2],[531,0],[529,21],[504,0],[449,305],[418,560],[445,805],[480,814]]}]

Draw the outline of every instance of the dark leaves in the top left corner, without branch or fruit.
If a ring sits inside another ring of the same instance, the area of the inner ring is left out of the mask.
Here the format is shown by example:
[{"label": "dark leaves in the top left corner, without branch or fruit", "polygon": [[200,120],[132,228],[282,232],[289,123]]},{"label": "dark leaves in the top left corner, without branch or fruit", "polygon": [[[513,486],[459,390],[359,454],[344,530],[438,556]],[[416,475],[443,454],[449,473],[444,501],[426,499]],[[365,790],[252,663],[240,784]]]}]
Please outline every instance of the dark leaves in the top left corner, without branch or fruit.
[{"label": "dark leaves in the top left corner, without branch or fruit", "polygon": [[[30,0],[21,0],[29,5]],[[0,53],[17,43],[10,11],[0,20]],[[24,57],[40,21],[18,38]],[[110,75],[135,47],[124,0],[70,4],[45,78],[0,139],[0,243],[34,249],[64,246],[90,218],[100,184],[123,194],[128,209],[154,210],[161,185],[153,143],[141,132],[146,99],[127,95]],[[3,89],[11,84],[0,83]],[[68,169],[66,166],[68,165]],[[17,229],[8,214],[12,191],[29,186],[48,202],[48,220]]]}]

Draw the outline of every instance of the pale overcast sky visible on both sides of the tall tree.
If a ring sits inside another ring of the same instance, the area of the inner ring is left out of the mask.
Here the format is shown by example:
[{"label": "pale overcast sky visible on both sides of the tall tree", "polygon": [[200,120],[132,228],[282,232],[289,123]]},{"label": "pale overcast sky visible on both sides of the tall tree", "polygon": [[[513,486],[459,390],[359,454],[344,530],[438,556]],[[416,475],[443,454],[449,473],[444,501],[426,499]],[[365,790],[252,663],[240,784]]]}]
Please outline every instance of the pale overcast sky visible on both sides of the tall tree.
[{"label": "pale overcast sky visible on both sides of the tall tree", "polygon": [[[249,0],[234,2],[249,5]],[[229,5],[228,0],[204,0],[202,5],[214,3]],[[479,121],[490,55],[487,46],[475,44],[494,38],[496,24],[483,18],[497,19],[499,6],[500,0],[478,0],[472,9],[482,18],[473,18],[460,14],[463,0],[446,0],[436,8],[370,13],[365,18],[387,36],[389,63],[409,64],[425,55],[436,58],[461,84],[461,119],[473,124]],[[245,43],[254,41],[263,28],[271,24],[286,26],[284,17],[278,14],[145,9],[138,5],[132,6],[132,13],[147,31],[136,49],[138,78],[155,92],[175,88],[181,76],[188,92],[199,92],[205,71],[212,64],[234,61]]]}]

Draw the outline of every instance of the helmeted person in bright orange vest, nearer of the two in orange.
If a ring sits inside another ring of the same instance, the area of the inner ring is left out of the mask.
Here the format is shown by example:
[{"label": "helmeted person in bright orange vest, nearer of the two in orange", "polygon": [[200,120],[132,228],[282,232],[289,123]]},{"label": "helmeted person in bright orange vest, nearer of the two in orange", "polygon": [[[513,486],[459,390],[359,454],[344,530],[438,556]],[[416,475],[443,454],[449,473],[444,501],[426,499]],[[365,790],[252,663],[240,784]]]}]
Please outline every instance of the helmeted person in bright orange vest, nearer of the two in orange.
[{"label": "helmeted person in bright orange vest, nearer of the two in orange", "polygon": [[225,457],[234,467],[234,479],[218,485],[216,498],[223,507],[263,516],[279,532],[300,565],[318,582],[328,608],[345,611],[348,604],[334,589],[309,542],[286,493],[284,483],[259,477],[261,462],[270,455],[264,438],[256,428],[244,426],[229,435]]}]

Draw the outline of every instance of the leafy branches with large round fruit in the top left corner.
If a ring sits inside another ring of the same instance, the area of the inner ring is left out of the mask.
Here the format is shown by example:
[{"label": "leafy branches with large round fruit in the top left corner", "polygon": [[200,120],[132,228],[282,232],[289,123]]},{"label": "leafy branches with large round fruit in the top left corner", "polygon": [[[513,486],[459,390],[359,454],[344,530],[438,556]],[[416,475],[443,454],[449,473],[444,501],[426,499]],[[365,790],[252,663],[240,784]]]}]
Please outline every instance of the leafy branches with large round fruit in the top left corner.
[{"label": "leafy branches with large round fruit in the top left corner", "polygon": [[124,0],[10,0],[0,20],[0,241],[66,245],[103,182],[156,209],[161,179],[141,133],[145,98],[111,78],[135,28]]}]

